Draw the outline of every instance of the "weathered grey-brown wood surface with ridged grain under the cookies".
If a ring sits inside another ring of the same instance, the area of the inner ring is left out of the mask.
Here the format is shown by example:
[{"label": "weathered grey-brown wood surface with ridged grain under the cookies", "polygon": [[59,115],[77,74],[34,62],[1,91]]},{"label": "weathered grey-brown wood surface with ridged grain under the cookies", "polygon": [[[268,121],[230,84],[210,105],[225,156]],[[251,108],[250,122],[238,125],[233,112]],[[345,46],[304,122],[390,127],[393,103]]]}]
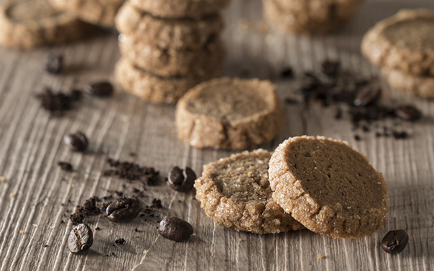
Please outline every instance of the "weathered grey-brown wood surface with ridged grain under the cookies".
[{"label": "weathered grey-brown wood surface with ridged grain under the cookies", "polygon": [[[236,76],[247,69],[251,76],[270,78],[279,84],[282,97],[295,89],[294,82],[277,80],[277,72],[286,65],[300,74],[318,69],[322,59],[332,58],[354,72],[377,74],[378,69],[359,53],[363,33],[402,7],[424,6],[434,8],[434,2],[370,0],[351,25],[309,38],[246,29],[259,22],[260,1],[232,0],[224,13],[224,39],[229,48],[224,74]],[[43,72],[41,63],[49,52],[64,53],[66,62],[73,64],[70,71],[62,76]],[[189,147],[177,139],[174,107],[145,104],[122,92],[114,98],[87,99],[63,118],[51,118],[35,101],[34,93],[44,86],[67,90],[99,79],[113,80],[118,58],[115,34],[28,52],[0,48],[0,176],[6,178],[0,183],[1,271],[434,270],[434,102],[391,92],[386,86],[384,101],[405,100],[424,113],[425,118],[416,125],[401,124],[411,133],[409,139],[357,132],[362,140],[356,141],[350,122],[335,121],[332,108],[317,105],[306,111],[291,105],[286,107],[284,132],[261,146],[272,150],[288,136],[303,134],[348,140],[388,182],[389,217],[378,233],[357,240],[335,240],[307,230],[277,235],[236,232],[207,218],[193,192],[177,193],[161,182],[146,191],[143,201],[150,204],[153,198],[161,198],[162,217],[176,215],[190,221],[195,235],[189,242],[159,237],[157,223],[140,217],[118,225],[101,215],[86,218],[92,228],[101,228],[94,231],[89,253],[70,254],[66,243],[72,225],[67,216],[76,205],[94,195],[110,194],[107,190],[124,189],[123,184],[126,194],[138,185],[102,176],[108,167],[107,157],[151,165],[164,176],[174,165],[192,166],[201,172],[204,163],[230,154]],[[64,134],[76,130],[90,138],[84,154],[69,151],[62,142]],[[132,151],[137,157],[129,156]],[[59,160],[70,161],[74,172],[61,171],[56,166]],[[397,256],[380,248],[382,237],[392,229],[405,229],[410,235],[405,252]],[[125,238],[127,244],[113,246],[118,237]],[[317,254],[324,258],[317,259]]]}]

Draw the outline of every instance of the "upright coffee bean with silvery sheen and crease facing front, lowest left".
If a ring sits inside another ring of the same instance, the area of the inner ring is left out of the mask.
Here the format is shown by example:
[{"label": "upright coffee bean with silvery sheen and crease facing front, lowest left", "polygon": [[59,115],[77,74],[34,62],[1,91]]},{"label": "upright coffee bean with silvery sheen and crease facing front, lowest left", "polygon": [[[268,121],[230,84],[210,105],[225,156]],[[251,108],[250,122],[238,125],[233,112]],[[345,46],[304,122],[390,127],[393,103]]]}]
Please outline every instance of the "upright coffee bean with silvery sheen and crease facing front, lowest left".
[{"label": "upright coffee bean with silvery sheen and crease facing front, lowest left", "polygon": [[79,224],[72,229],[68,237],[68,249],[73,254],[87,251],[93,244],[93,233],[86,224]]}]

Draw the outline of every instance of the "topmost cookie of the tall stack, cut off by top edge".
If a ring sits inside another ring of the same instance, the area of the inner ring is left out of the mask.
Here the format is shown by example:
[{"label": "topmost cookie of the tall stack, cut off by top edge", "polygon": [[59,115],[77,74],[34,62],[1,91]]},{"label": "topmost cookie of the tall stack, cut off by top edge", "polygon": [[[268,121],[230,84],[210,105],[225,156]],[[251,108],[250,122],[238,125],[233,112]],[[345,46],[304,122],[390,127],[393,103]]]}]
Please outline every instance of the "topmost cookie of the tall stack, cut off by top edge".
[{"label": "topmost cookie of the tall stack, cut off by top edge", "polygon": [[130,0],[143,11],[162,18],[203,18],[224,8],[229,0]]}]

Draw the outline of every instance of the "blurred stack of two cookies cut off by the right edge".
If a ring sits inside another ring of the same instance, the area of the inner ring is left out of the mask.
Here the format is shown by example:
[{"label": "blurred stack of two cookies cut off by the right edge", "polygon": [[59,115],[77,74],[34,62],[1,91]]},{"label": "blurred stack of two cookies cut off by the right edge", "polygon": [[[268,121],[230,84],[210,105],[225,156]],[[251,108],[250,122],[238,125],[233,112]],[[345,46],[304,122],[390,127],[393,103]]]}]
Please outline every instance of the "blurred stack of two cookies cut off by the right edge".
[{"label": "blurred stack of two cookies cut off by the right edge", "polygon": [[434,98],[434,10],[404,9],[378,22],[365,34],[362,52],[383,67],[393,88]]}]

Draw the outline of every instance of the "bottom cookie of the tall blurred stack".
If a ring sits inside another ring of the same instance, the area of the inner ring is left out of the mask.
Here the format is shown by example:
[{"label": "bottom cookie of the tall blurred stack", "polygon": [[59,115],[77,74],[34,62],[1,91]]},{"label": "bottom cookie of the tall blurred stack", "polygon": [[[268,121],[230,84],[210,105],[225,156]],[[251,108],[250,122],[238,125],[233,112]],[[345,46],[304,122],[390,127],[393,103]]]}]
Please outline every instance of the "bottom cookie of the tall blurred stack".
[{"label": "bottom cookie of the tall blurred stack", "polygon": [[[199,78],[164,78],[135,67],[126,58],[121,58],[116,64],[115,76],[126,92],[144,101],[157,104],[176,103],[189,89],[213,78],[213,75]],[[218,76],[218,74],[215,74],[215,76]]]}]

